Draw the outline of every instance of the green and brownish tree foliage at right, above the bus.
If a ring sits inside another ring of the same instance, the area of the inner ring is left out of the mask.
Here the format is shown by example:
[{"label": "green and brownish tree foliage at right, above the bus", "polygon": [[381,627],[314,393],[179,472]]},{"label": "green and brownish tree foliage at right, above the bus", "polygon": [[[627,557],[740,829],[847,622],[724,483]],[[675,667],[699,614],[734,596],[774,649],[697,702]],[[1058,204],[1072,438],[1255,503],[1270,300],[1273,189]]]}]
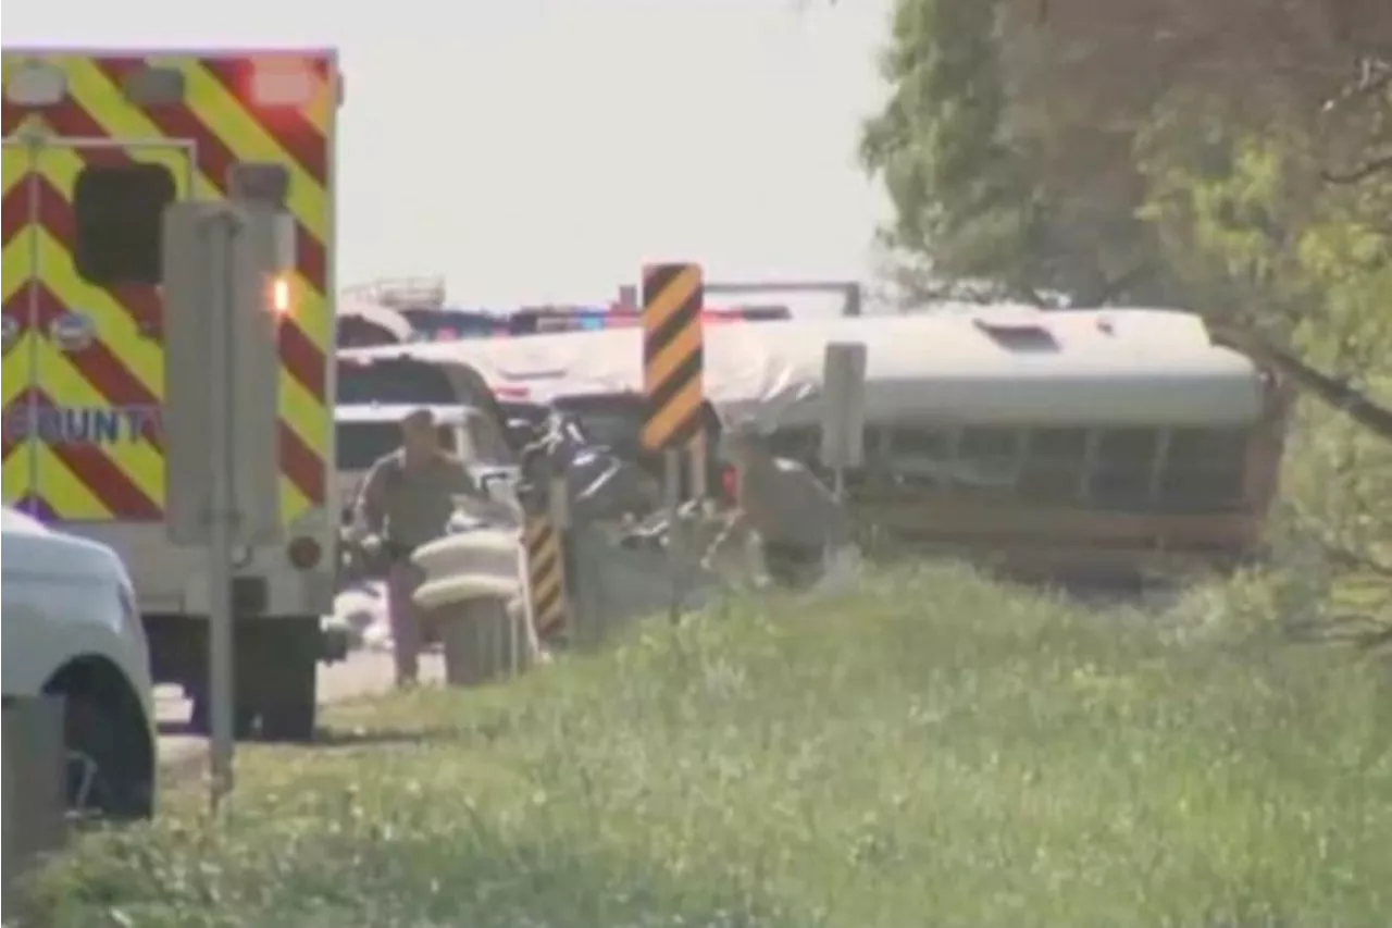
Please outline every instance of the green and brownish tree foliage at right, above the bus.
[{"label": "green and brownish tree foliage at right, above the bus", "polygon": [[[881,70],[906,266],[1203,311],[1392,397],[1388,0],[896,0]],[[1304,408],[1285,486],[1392,577],[1389,439]]]}]

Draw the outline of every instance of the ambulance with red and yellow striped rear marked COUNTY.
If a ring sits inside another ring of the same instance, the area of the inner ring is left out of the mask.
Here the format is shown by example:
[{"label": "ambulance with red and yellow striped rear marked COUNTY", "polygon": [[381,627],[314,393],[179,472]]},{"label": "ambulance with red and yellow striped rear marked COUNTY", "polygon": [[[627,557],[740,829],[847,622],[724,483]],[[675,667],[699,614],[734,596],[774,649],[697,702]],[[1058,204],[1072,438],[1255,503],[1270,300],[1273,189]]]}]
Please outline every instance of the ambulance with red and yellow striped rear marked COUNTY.
[{"label": "ambulance with red and yellow striped rear marked COUNTY", "polygon": [[[203,553],[166,536],[161,223],[181,201],[273,203],[285,542],[237,552],[237,729],[315,732],[337,560],[337,54],[0,49],[0,500],[117,550],[157,683],[207,723]],[[274,297],[271,297],[274,294]]]}]

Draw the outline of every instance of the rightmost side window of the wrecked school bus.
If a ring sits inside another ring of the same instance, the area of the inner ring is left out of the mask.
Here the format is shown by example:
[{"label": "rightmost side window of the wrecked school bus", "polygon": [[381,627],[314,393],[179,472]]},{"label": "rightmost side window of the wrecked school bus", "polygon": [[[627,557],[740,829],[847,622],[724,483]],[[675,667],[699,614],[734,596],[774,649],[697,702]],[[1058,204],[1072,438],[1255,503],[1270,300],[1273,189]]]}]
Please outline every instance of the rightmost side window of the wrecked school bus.
[{"label": "rightmost side window of the wrecked school bus", "polygon": [[1244,429],[1175,429],[1160,481],[1171,511],[1212,511],[1243,497],[1247,461]]}]

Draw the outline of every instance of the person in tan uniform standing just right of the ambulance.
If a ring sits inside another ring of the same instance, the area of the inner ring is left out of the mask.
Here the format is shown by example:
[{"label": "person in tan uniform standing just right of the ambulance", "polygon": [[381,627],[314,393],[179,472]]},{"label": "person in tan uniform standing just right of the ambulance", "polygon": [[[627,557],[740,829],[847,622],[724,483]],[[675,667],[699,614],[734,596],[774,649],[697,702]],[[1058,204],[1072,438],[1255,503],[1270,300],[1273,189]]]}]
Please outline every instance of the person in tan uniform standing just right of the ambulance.
[{"label": "person in tan uniform standing just right of the ambulance", "polygon": [[468,468],[440,444],[430,410],[401,421],[401,447],[372,465],[358,495],[356,521],[363,550],[387,560],[387,610],[391,620],[397,686],[419,679],[422,628],[415,605],[420,569],[411,555],[445,534],[457,496],[480,496]]}]

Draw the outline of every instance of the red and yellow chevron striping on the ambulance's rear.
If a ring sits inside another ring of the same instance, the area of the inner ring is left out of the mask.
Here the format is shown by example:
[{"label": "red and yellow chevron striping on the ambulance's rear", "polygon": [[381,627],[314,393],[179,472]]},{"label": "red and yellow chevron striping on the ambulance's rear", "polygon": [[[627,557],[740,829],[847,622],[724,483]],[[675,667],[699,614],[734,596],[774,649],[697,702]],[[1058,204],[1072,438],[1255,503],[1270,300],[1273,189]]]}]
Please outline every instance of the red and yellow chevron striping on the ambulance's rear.
[{"label": "red and yellow chevron striping on the ambulance's rear", "polygon": [[[21,53],[0,52],[0,72],[11,54]],[[281,503],[287,520],[323,504],[333,429],[326,359],[334,340],[327,258],[337,102],[331,59],[302,56],[317,88],[306,105],[263,109],[248,92],[253,56],[39,57],[63,72],[63,103],[25,111],[0,100],[0,139],[31,120],[50,137],[35,156],[0,148],[0,316],[17,329],[13,343],[0,346],[0,495],[24,497],[60,520],[161,517],[157,424],[131,412],[157,410],[166,389],[159,294],[85,279],[74,206],[82,171],[163,164],[180,195],[213,199],[227,195],[234,164],[273,162],[290,173],[287,208],[296,223],[295,311],[280,343]],[[148,65],[177,68],[182,99],[159,106],[132,100],[122,88]],[[56,323],[74,312],[88,316],[96,333],[79,350],[52,337]],[[53,439],[74,432],[90,438],[97,425],[118,429],[117,412],[129,418],[121,440]],[[100,418],[93,425],[88,415]]]}]

